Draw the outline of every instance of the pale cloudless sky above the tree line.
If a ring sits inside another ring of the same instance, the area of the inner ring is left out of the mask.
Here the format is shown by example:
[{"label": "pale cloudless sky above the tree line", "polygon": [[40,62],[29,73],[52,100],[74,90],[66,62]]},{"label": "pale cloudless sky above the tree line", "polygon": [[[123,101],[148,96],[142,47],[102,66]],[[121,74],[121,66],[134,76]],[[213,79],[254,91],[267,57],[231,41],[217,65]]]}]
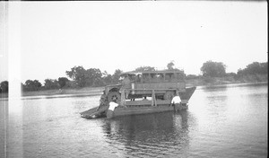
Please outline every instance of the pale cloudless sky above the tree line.
[{"label": "pale cloudless sky above the tree line", "polygon": [[[1,2],[0,81],[67,77],[74,66],[132,71],[165,68],[187,75],[212,60],[237,73],[267,61],[264,2]],[[4,9],[4,10],[3,10]],[[10,75],[11,74],[11,75]]]}]

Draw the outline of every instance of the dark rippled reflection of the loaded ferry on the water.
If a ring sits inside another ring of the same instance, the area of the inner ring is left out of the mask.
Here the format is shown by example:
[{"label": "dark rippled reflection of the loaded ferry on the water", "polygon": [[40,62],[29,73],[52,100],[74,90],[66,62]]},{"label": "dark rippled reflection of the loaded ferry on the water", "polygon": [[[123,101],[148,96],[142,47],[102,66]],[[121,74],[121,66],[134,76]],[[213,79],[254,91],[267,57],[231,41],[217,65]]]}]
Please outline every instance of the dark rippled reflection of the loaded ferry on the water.
[{"label": "dark rippled reflection of the loaded ferry on the water", "polygon": [[[109,145],[134,157],[187,154],[188,113],[181,111],[115,118],[102,126]],[[122,146],[121,146],[122,147]]]}]

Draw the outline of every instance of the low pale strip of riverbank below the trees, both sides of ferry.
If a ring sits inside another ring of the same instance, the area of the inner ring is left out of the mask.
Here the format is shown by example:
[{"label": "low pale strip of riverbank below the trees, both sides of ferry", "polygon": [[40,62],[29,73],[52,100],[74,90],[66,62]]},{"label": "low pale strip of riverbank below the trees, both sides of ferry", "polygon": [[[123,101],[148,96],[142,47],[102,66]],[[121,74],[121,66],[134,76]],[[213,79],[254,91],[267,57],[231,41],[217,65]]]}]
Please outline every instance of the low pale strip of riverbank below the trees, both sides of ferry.
[{"label": "low pale strip of riverbank below the trees, both sides of ferry", "polygon": [[[268,75],[244,75],[244,76],[225,76],[225,77],[204,77],[196,76],[187,78],[187,86],[218,85],[231,83],[262,83],[268,82]],[[22,92],[23,97],[27,96],[54,96],[54,95],[98,95],[104,91],[104,87],[85,87],[81,89],[60,89],[43,90],[35,92]],[[0,98],[7,98],[7,93],[0,93]]]}]

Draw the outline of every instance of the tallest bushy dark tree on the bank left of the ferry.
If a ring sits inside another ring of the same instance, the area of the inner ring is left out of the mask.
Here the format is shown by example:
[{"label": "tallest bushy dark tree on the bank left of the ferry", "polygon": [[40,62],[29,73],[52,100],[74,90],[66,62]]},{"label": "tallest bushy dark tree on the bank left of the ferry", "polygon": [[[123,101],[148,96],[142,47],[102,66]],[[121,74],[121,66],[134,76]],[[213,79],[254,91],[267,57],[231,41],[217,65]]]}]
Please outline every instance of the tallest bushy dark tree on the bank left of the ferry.
[{"label": "tallest bushy dark tree on the bank left of the ferry", "polygon": [[80,87],[86,85],[86,70],[82,66],[74,66],[71,68],[71,71],[66,71],[65,74],[72,78]]}]

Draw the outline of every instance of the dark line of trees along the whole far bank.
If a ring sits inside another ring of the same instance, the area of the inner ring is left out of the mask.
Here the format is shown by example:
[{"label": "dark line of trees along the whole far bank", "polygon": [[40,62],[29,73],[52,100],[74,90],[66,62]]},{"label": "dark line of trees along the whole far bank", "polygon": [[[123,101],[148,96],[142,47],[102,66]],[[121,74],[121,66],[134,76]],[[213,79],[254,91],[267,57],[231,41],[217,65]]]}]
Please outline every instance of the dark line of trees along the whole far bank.
[{"label": "dark line of trees along the whole far bank", "polygon": [[[226,73],[226,66],[221,62],[207,61],[200,68],[203,76],[205,77],[223,77],[233,76],[239,77],[242,75],[257,75],[268,74],[267,63],[254,62],[247,65],[244,69],[239,69],[237,74]],[[175,69],[174,62],[171,61],[167,65],[168,69]],[[135,71],[155,71],[152,66],[140,66]],[[82,66],[74,66],[70,71],[66,71],[67,77],[59,77],[58,79],[46,79],[44,85],[39,80],[27,80],[25,83],[21,83],[23,92],[39,91],[39,90],[54,90],[54,89],[73,89],[82,87],[99,87],[108,84],[119,83],[121,70],[115,70],[113,75],[109,75],[108,72],[101,72],[99,68],[84,69]],[[187,75],[186,79],[195,79],[200,77],[199,75]],[[8,92],[8,81],[0,83],[0,92]]]}]

